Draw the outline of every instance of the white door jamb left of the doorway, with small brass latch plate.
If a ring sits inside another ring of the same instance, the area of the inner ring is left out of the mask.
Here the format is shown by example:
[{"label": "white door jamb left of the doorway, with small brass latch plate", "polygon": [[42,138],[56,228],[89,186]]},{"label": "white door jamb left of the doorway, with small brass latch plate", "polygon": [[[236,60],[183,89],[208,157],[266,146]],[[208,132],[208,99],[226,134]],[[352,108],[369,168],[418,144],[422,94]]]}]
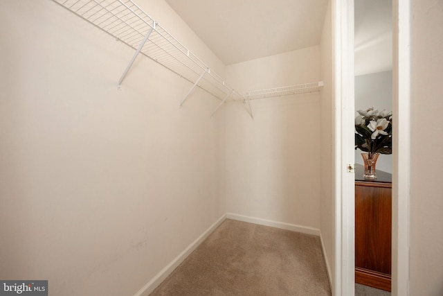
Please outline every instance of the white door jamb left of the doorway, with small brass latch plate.
[{"label": "white door jamb left of the doorway, with small brass latch plate", "polygon": [[354,0],[332,0],[334,11],[336,245],[333,295],[354,295]]}]

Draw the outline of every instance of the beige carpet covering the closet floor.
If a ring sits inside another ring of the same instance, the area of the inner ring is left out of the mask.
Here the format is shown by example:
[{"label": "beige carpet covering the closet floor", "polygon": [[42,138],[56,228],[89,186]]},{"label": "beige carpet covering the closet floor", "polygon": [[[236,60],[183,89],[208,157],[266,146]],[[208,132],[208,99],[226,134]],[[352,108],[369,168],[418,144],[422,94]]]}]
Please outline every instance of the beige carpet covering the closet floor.
[{"label": "beige carpet covering the closet floor", "polygon": [[320,238],[225,220],[151,293],[331,295]]}]

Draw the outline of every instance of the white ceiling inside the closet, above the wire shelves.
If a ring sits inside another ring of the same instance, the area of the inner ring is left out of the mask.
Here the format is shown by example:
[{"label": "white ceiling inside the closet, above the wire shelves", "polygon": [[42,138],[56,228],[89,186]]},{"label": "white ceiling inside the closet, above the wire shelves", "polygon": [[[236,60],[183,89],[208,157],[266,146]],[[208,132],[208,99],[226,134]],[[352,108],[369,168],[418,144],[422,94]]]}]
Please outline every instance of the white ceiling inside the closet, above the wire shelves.
[{"label": "white ceiling inside the closet, above the wire shelves", "polygon": [[320,44],[327,0],[166,0],[226,65]]}]

